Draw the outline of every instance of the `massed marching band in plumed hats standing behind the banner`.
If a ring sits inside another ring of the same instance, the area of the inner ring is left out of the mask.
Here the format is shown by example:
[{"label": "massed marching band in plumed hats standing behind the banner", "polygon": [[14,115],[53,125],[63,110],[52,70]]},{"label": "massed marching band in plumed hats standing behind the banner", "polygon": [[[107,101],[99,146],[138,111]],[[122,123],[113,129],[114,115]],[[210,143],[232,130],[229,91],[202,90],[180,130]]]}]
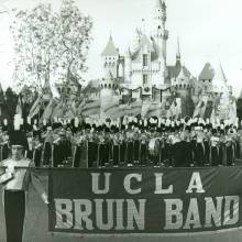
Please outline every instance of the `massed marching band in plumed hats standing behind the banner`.
[{"label": "massed marching band in plumed hats standing behind the banner", "polygon": [[[36,167],[232,166],[242,158],[240,125],[224,120],[129,117],[120,122],[34,122],[20,129],[25,156]],[[10,132],[9,125],[0,127],[0,161],[10,155]]]}]

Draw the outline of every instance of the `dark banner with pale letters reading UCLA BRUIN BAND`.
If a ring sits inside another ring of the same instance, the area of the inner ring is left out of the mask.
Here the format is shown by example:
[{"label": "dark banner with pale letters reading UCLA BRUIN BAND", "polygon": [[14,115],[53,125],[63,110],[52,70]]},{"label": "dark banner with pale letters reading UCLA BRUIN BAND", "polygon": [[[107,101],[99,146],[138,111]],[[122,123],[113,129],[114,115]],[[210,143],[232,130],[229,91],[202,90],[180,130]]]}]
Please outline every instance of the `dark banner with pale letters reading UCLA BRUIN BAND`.
[{"label": "dark banner with pale letters reading UCLA BRUIN BAND", "polygon": [[54,232],[173,235],[242,226],[241,167],[62,168],[50,170],[48,184]]}]

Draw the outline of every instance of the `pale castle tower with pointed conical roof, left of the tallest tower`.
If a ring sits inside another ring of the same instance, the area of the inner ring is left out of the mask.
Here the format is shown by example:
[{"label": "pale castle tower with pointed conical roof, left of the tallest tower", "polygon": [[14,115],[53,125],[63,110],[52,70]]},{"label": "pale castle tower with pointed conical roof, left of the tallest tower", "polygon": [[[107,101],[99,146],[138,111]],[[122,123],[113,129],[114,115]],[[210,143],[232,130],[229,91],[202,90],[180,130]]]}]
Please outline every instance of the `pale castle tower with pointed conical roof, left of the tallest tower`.
[{"label": "pale castle tower with pointed conical roof, left of the tallest tower", "polygon": [[103,52],[101,53],[103,58],[103,69],[105,77],[109,78],[111,75],[117,78],[117,65],[119,59],[119,52],[116,48],[116,45],[112,41],[112,36],[110,35],[108,44],[106,45]]}]

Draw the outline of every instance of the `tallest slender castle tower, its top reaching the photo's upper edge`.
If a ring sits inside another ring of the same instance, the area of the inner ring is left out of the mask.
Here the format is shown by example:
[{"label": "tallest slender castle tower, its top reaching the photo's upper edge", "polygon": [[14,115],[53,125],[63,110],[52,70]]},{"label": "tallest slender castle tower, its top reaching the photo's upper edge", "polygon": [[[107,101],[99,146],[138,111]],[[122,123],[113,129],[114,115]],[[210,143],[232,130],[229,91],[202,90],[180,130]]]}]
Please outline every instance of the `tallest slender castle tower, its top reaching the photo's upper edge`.
[{"label": "tallest slender castle tower, its top reaching the photo's upper edge", "polygon": [[166,30],[166,3],[164,0],[156,0],[155,6],[155,33],[154,38],[158,47],[158,62],[161,64],[161,75],[163,80],[166,75],[166,41],[168,31]]}]

